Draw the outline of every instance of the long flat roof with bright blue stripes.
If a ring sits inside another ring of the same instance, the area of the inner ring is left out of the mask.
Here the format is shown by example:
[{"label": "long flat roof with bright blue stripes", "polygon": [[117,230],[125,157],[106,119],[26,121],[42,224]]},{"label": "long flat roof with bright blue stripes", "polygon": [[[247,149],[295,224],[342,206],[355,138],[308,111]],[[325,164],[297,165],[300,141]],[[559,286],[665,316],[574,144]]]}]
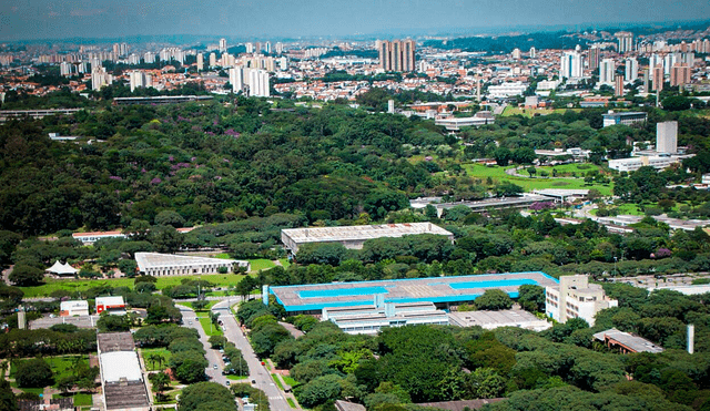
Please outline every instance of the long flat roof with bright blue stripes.
[{"label": "long flat roof with bright blue stripes", "polygon": [[518,297],[518,287],[557,286],[559,281],[541,271],[486,274],[456,277],[427,277],[381,281],[354,281],[272,287],[271,294],[286,311],[313,311],[325,307],[373,305],[374,296],[387,302],[434,304],[471,301],[487,289],[497,288]]}]

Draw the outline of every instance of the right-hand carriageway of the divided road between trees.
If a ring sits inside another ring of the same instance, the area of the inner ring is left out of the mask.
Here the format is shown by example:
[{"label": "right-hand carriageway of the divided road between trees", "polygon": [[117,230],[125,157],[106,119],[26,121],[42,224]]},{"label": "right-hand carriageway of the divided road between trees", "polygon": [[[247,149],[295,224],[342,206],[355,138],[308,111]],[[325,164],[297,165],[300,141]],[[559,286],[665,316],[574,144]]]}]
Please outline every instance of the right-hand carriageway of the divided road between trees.
[{"label": "right-hand carriageway of the divided road between trees", "polygon": [[[239,298],[232,299],[232,304],[236,304],[237,300]],[[242,332],[236,319],[234,319],[234,315],[230,311],[229,301],[215,304],[212,307],[212,311],[220,312],[220,319],[225,327],[224,336],[229,341],[234,342],[236,348],[242,351],[242,356],[244,356],[244,360],[248,364],[248,380],[255,381],[252,386],[264,391],[266,397],[268,397],[268,404],[272,410],[291,410],[291,405],[288,405],[283,393],[278,390],[278,387],[276,387],[271,373],[266,367],[262,366],[261,361],[254,353],[252,346],[248,343],[246,336],[244,336],[244,332]]]}]

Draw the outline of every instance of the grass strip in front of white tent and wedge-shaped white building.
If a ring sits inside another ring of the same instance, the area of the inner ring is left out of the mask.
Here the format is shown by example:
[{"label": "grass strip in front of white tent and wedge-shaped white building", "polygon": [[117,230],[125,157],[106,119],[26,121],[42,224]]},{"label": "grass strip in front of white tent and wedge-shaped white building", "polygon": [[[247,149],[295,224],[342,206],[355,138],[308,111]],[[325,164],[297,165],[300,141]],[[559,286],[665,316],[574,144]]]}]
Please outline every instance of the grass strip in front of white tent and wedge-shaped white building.
[{"label": "grass strip in front of white tent and wedge-shaped white building", "polygon": [[[268,261],[268,260],[265,260]],[[271,261],[268,261],[271,263]],[[272,267],[274,266],[273,263]],[[271,267],[268,267],[271,268]],[[155,287],[163,289],[165,287],[179,286],[184,279],[203,279],[214,284],[217,287],[236,286],[244,276],[234,274],[203,274],[201,276],[173,276],[158,277]],[[111,286],[111,287],[130,287],[133,288],[132,278],[109,278],[109,279],[54,279],[44,278],[45,284],[37,287],[20,287],[24,291],[24,297],[42,297],[49,296],[52,291],[64,289],[68,291],[85,291],[92,287]]]}]

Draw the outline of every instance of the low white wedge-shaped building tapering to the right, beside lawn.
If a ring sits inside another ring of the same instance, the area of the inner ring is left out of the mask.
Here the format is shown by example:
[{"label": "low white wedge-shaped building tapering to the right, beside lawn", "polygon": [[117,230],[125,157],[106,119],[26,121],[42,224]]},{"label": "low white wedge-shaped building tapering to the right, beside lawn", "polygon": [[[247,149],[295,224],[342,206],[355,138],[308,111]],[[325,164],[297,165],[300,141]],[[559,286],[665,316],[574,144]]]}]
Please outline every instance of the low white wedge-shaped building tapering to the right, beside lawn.
[{"label": "low white wedge-shaped building tapering to the right, beside lawn", "polygon": [[222,268],[227,273],[233,273],[236,267],[250,269],[248,261],[160,253],[135,253],[135,263],[140,273],[155,277],[219,274]]}]

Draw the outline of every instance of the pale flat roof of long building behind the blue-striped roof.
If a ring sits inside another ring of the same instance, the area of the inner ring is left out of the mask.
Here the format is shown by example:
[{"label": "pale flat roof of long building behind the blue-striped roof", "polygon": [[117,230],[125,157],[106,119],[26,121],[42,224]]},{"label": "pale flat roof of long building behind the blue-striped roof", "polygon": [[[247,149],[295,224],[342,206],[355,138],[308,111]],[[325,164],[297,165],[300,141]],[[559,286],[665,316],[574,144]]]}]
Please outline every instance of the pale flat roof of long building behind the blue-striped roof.
[{"label": "pale flat roof of long building behind the blue-striped roof", "polygon": [[382,224],[346,227],[315,227],[315,228],[287,228],[281,230],[295,243],[327,243],[366,240],[382,237],[402,237],[416,234],[438,234],[453,236],[453,234],[432,223],[404,223]]}]

